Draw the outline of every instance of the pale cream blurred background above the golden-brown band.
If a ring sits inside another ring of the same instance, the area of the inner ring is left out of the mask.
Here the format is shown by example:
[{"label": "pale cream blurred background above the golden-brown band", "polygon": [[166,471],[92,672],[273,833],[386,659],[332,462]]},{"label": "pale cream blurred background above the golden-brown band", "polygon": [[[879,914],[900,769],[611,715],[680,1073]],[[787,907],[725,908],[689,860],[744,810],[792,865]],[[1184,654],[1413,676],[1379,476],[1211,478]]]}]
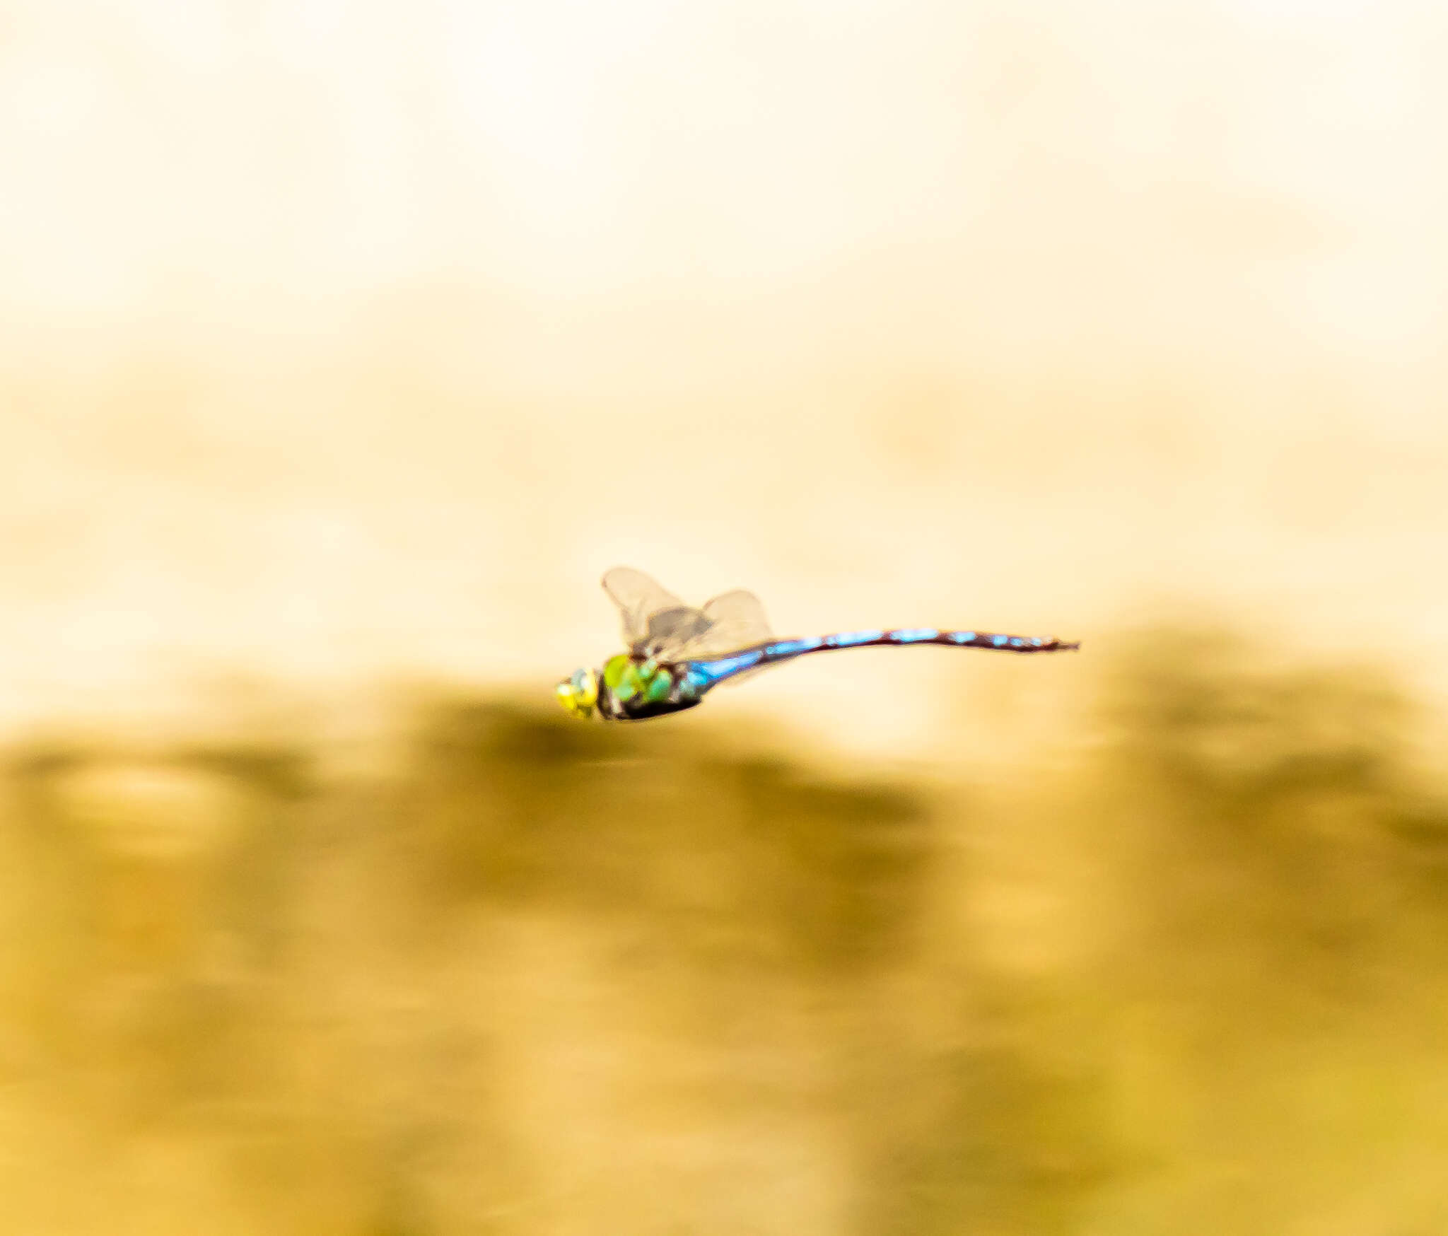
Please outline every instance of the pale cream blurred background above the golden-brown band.
[{"label": "pale cream blurred background above the golden-brown band", "polygon": [[[546,692],[614,562],[1441,690],[1445,59],[1428,0],[0,3],[0,714]],[[1002,673],[943,657],[717,706],[888,744]]]}]

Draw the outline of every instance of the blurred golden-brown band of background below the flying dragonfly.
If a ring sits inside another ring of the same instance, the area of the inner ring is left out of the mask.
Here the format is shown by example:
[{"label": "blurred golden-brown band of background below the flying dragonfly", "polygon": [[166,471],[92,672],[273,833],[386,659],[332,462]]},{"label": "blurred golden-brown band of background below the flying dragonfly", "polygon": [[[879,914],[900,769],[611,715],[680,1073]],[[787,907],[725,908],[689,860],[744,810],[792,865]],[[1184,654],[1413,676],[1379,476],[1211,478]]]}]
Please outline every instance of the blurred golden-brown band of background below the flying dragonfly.
[{"label": "blurred golden-brown band of background below the flying dragonfly", "polygon": [[361,761],[17,745],[0,1226],[1448,1230],[1422,718],[1100,663],[1105,741],[989,790],[445,692]]}]

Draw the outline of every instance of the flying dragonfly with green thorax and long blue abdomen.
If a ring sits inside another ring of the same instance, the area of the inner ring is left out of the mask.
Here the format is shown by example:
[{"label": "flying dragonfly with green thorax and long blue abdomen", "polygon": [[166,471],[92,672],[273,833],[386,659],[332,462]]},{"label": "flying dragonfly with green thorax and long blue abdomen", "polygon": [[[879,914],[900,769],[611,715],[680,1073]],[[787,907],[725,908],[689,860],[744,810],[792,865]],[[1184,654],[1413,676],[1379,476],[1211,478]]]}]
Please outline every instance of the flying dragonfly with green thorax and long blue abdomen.
[{"label": "flying dragonfly with green thorax and long blue abdomen", "polygon": [[696,708],[724,683],[759,670],[835,648],[940,644],[1005,653],[1061,653],[1079,648],[1054,637],[944,631],[937,627],[840,631],[782,640],[769,628],[753,592],[734,589],[695,608],[641,570],[615,566],[604,573],[604,592],[618,609],[627,651],[598,669],[579,669],[555,687],[569,716],[646,721]]}]

